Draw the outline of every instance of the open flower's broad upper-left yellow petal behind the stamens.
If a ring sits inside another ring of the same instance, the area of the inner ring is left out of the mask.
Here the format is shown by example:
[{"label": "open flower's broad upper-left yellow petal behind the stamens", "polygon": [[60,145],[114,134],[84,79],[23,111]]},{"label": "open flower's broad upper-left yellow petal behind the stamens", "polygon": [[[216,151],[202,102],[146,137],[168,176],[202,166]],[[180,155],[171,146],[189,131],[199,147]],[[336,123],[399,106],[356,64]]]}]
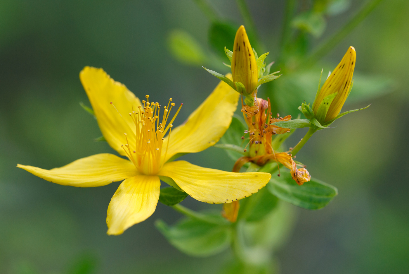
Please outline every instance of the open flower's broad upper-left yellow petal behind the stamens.
[{"label": "open flower's broad upper-left yellow petal behind the stamens", "polygon": [[[99,128],[108,144],[119,154],[126,156],[121,145],[126,144],[127,133],[131,144],[135,143],[135,123],[129,115],[141,102],[125,85],[115,82],[102,68],[85,67],[79,77],[94,109]],[[112,104],[110,104],[112,102]]]}]

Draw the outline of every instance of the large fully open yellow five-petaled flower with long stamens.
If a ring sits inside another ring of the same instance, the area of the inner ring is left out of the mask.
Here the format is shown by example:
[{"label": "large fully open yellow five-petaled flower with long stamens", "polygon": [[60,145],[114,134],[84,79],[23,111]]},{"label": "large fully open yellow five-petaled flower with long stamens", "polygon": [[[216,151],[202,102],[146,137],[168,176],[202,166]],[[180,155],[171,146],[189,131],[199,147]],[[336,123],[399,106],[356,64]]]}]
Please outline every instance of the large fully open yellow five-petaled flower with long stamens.
[{"label": "large fully open yellow five-petaled flower with long stamens", "polygon": [[[270,180],[268,173],[233,173],[202,168],[175,156],[200,152],[218,142],[230,125],[238,93],[220,82],[186,122],[172,129],[174,104],[139,101],[126,86],[102,69],[85,67],[80,79],[108,144],[122,156],[96,154],[61,168],[44,170],[17,165],[47,181],[67,186],[105,186],[122,181],[108,206],[108,234],[121,234],[155,211],[160,179],[207,203],[229,203],[257,192]],[[163,114],[162,114],[163,113]],[[160,115],[162,114],[162,119]],[[165,134],[167,134],[166,137]]]}]

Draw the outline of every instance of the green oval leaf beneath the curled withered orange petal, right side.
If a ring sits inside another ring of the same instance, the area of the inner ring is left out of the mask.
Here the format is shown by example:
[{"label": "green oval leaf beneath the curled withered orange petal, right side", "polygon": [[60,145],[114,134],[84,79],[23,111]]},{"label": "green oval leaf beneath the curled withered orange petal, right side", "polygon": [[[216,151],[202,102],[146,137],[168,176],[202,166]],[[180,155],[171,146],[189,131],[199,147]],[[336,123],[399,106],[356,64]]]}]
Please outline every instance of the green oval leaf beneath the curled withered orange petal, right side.
[{"label": "green oval leaf beneath the curled withered orange petal, right side", "polygon": [[267,188],[279,199],[311,210],[323,208],[338,194],[337,188],[314,178],[299,186],[287,171],[280,177],[272,174]]}]

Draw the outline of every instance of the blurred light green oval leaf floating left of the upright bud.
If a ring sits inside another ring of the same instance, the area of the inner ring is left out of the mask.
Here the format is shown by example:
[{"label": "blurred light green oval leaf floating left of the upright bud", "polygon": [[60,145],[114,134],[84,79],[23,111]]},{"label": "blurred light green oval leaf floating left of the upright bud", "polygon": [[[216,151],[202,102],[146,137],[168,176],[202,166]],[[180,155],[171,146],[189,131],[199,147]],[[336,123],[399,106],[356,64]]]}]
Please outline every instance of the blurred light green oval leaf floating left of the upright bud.
[{"label": "blurred light green oval leaf floating left of the upright bud", "polygon": [[168,47],[173,58],[187,65],[202,65],[205,53],[193,36],[181,29],[174,29],[168,36]]}]

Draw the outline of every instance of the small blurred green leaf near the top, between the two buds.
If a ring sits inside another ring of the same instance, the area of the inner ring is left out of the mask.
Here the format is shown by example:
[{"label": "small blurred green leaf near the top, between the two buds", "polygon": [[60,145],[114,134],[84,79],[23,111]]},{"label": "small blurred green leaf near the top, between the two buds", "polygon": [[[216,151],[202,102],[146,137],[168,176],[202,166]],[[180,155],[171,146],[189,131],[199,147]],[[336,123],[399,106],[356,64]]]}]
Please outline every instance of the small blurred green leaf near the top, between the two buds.
[{"label": "small blurred green leaf near the top, between the two buds", "polygon": [[292,20],[291,25],[294,28],[305,30],[315,37],[319,37],[324,33],[326,21],[321,13],[307,11],[296,16]]}]

